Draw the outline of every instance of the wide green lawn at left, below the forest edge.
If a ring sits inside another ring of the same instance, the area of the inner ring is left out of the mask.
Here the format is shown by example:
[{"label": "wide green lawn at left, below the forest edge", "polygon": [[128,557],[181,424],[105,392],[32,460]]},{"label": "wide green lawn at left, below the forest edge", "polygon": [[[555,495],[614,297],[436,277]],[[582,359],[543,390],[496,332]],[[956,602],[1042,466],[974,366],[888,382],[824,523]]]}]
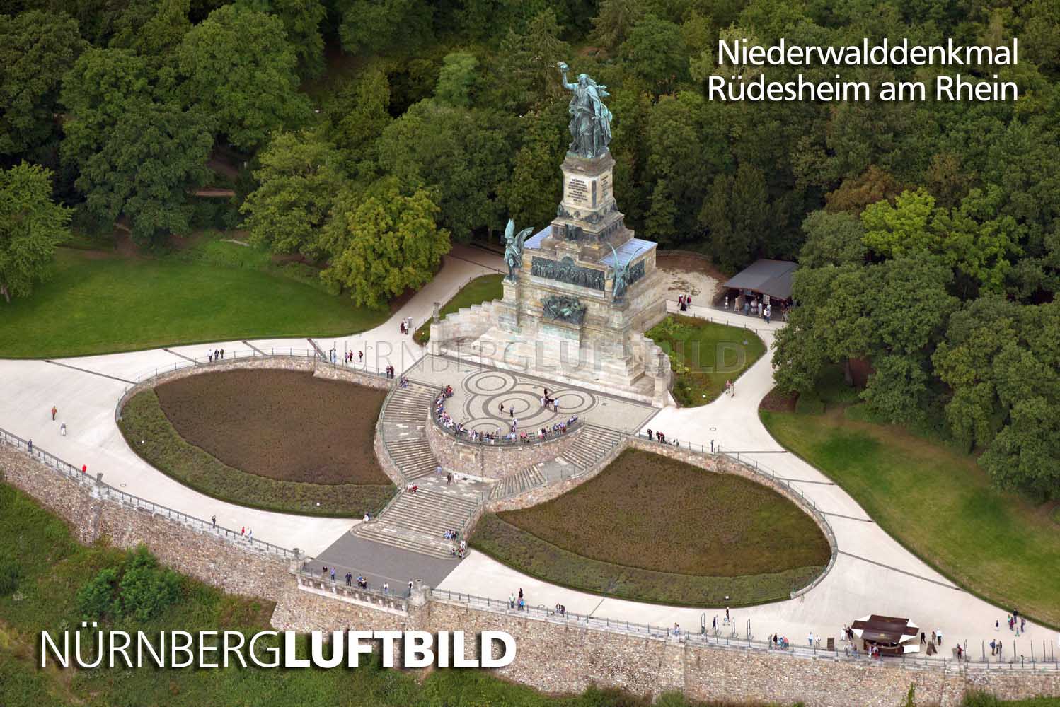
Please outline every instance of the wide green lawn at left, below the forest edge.
[{"label": "wide green lawn at left, below the forest edge", "polygon": [[300,282],[300,274],[266,269],[252,249],[219,241],[204,252],[158,259],[60,250],[50,280],[29,297],[0,301],[0,357],[337,336],[369,329],[389,315],[357,309],[346,295]]}]

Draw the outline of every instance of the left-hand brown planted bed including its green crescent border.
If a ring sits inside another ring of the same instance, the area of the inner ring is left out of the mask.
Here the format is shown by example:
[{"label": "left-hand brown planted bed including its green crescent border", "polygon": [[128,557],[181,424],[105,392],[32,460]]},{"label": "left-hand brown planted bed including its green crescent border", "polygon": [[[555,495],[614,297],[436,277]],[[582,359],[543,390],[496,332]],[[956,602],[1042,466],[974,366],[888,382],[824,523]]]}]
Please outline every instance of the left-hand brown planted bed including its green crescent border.
[{"label": "left-hand brown planted bed including its green crescent border", "polygon": [[372,450],[385,397],[307,371],[205,373],[137,394],[119,427],[148,464],[216,498],[360,516],[394,491]]}]

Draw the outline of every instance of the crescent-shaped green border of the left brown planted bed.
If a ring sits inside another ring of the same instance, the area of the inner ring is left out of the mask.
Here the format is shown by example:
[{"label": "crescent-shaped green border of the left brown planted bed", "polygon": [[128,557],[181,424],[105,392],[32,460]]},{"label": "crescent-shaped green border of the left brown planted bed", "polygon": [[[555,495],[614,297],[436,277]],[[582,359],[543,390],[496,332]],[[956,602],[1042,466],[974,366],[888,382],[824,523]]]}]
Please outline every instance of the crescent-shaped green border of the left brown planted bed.
[{"label": "crescent-shaped green border of the left brown planted bed", "polygon": [[132,396],[118,422],[125,441],[144,461],[206,495],[263,510],[359,518],[376,513],[393,495],[392,484],[308,484],[251,474],[230,467],[184,440],[162,412],[154,391]]}]

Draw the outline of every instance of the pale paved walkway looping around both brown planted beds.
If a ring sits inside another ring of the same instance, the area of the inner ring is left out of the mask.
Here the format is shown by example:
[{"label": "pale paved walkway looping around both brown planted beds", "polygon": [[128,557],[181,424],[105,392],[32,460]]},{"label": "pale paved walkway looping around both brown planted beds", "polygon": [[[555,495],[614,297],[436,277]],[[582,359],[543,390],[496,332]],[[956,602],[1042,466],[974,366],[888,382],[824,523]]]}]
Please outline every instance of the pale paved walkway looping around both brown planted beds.
[{"label": "pale paved walkway looping around both brown planted beds", "polygon": [[[476,249],[457,247],[446,256],[445,265],[430,284],[406,303],[384,325],[349,338],[317,341],[323,349],[335,346],[340,351],[364,350],[374,367],[392,364],[405,370],[422,357],[422,350],[409,337],[399,332],[399,323],[411,318],[413,328],[430,316],[431,303],[443,302],[473,276],[499,269],[500,258]],[[772,343],[773,331],[780,324],[766,326],[760,320],[713,309],[693,307],[689,312],[712,321],[753,326],[762,330]],[[154,375],[156,370],[200,358],[207,350],[224,347],[226,351],[271,349],[308,349],[304,339],[218,342],[209,345],[178,346],[129,354],[93,356],[57,361],[0,361],[3,402],[0,427],[32,438],[37,446],[75,465],[85,464],[89,473],[103,472],[104,481],[129,493],[155,500],[177,510],[209,518],[218,524],[246,526],[254,538],[286,547],[299,547],[311,556],[321,554],[343,537],[354,525],[350,520],[313,519],[283,513],[257,511],[204,496],[156,471],[126,446],[114,424],[114,404],[130,381]],[[758,461],[778,475],[798,482],[808,497],[829,513],[838,542],[840,556],[829,576],[799,599],[753,609],[734,610],[735,623],[742,635],[752,621],[755,636],[778,632],[795,642],[806,640],[808,632],[822,638],[837,634],[841,626],[869,613],[909,616],[926,631],[943,630],[946,646],[967,640],[972,657],[978,657],[980,640],[1002,637],[1011,647],[1012,634],[1004,628],[994,633],[995,619],[1005,612],[953,587],[923,562],[901,547],[871,522],[865,511],[819,471],[782,449],[758,419],[758,403],[772,387],[772,362],[766,355],[752,366],[736,384],[735,397],[721,399],[695,409],[667,407],[651,419],[650,425],[666,432],[669,438],[695,440],[709,445],[713,439],[726,450],[741,452],[741,458]],[[57,421],[49,410],[58,407]],[[58,434],[66,422],[68,436]],[[774,452],[774,453],[771,453]],[[776,453],[780,452],[780,453]],[[665,509],[662,509],[665,512]],[[703,519],[708,523],[709,519]],[[334,549],[338,549],[337,547]],[[402,576],[410,574],[403,566]],[[444,570],[444,568],[442,568]],[[430,573],[436,575],[431,568]],[[395,579],[400,579],[395,578]],[[441,583],[440,588],[506,598],[522,587],[532,605],[563,603],[568,610],[606,616],[615,620],[651,622],[660,626],[681,623],[695,629],[701,621],[708,626],[714,614],[700,610],[642,604],[572,592],[531,579],[497,562],[473,552]],[[1054,632],[1027,624],[1027,634],[1019,639],[1015,654],[1029,655],[1029,640],[1056,643]],[[1036,649],[1036,650],[1039,650]],[[1009,649],[1011,650],[1011,648]],[[948,651],[943,650],[944,654]],[[1007,656],[1013,652],[1006,651]]]}]

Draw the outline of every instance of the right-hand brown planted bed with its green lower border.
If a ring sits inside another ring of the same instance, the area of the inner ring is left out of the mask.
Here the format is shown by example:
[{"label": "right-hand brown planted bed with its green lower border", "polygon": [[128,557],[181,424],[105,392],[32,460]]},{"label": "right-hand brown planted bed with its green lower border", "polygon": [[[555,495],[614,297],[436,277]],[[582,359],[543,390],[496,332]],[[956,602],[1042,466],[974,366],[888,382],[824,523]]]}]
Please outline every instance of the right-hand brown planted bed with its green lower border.
[{"label": "right-hand brown planted bed with its green lower border", "polygon": [[472,545],[556,584],[699,606],[787,599],[831,556],[776,491],[637,450],[558,498],[485,514]]}]

